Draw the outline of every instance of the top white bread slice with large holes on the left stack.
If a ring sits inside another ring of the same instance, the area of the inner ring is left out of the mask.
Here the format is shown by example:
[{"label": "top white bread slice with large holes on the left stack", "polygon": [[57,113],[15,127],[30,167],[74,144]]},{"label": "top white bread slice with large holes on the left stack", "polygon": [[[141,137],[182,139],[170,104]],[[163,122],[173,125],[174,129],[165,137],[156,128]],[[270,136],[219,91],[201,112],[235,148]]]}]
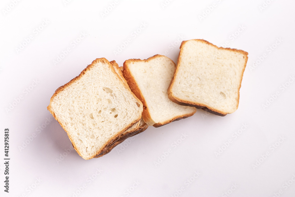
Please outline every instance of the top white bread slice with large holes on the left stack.
[{"label": "top white bread slice with large holes on the left stack", "polygon": [[142,102],[105,58],[59,87],[47,107],[67,132],[73,147],[91,159],[140,121]]}]

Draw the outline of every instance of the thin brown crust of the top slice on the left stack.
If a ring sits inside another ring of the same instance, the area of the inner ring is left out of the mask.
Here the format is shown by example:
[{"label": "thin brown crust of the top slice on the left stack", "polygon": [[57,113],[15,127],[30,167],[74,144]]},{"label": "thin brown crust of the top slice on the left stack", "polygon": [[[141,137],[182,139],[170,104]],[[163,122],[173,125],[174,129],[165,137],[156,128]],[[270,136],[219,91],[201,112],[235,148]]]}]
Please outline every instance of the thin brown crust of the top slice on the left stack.
[{"label": "thin brown crust of the top slice on the left stack", "polygon": [[[90,70],[96,63],[99,62],[103,62],[106,65],[109,66],[109,68],[111,69],[111,71],[118,76],[118,79],[120,79],[122,81],[122,84],[125,88],[127,88],[128,90],[129,87],[127,86],[126,82],[124,82],[124,80],[117,74],[117,72],[115,71],[114,67],[109,63],[109,61],[106,58],[97,58],[95,59],[90,65],[88,65],[78,76],[76,76],[74,79],[72,79],[71,81],[69,81],[68,83],[64,84],[63,86],[59,87],[57,90],[55,90],[54,94],[52,95],[51,99],[50,99],[50,104],[47,107],[47,110],[53,115],[53,117],[55,118],[55,120],[58,121],[58,123],[60,123],[60,125],[62,126],[62,128],[67,132],[67,129],[65,128],[65,126],[58,120],[58,118],[56,117],[54,111],[51,109],[51,102],[53,102],[53,98],[60,93],[61,91],[63,91],[66,87],[70,86],[71,84],[73,84],[73,82],[75,82],[76,80],[80,79],[85,73],[86,71]],[[134,95],[134,94],[132,94]],[[135,97],[135,96],[134,96]],[[139,102],[140,100],[135,97],[135,99]],[[71,140],[74,149],[76,150],[76,152],[83,158],[83,159],[92,159],[94,157],[96,157],[96,155],[99,155],[106,147],[108,147],[110,144],[112,144],[114,141],[116,141],[118,139],[118,136],[122,135],[127,129],[129,129],[133,124],[137,123],[138,121],[140,121],[140,116],[138,117],[137,120],[135,120],[134,122],[130,123],[126,128],[124,128],[122,131],[119,131],[115,136],[113,136],[111,139],[109,139],[100,150],[98,150],[96,152],[96,154],[94,154],[93,156],[91,156],[90,158],[84,158],[81,154],[81,152],[77,149],[76,144],[74,143],[73,139],[71,138],[71,136],[68,134],[69,139]]]}]

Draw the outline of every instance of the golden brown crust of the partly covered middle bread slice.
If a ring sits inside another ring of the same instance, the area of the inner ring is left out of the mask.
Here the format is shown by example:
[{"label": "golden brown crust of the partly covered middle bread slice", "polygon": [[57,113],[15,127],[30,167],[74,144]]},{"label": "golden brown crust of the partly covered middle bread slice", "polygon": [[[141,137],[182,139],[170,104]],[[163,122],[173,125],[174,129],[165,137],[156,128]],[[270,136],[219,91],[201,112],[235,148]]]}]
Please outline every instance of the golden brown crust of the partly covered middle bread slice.
[{"label": "golden brown crust of the partly covered middle bread slice", "polygon": [[[144,60],[141,60],[141,59],[129,59],[129,60],[126,60],[123,64],[123,76],[124,78],[126,79],[131,91],[135,94],[135,96],[137,96],[137,98],[139,98],[143,104],[143,112],[142,112],[142,117],[144,119],[145,122],[154,122],[150,116],[150,110],[146,104],[146,100],[144,98],[144,96],[142,95],[142,92],[139,88],[139,85],[137,84],[134,76],[132,75],[129,67],[128,67],[128,64],[132,63],[132,62],[141,62],[141,61],[150,61],[154,58],[158,58],[158,57],[163,57],[162,55],[154,55],[148,59],[144,59]],[[165,56],[164,56],[165,57]],[[171,59],[170,59],[171,60]],[[172,61],[172,60],[171,60]],[[173,61],[172,61],[173,62]],[[173,64],[175,65],[175,63],[173,62]],[[196,111],[194,111],[194,113],[196,113]],[[185,114],[185,115],[182,115],[182,116],[176,116],[174,118],[172,118],[171,120],[168,120],[168,121],[165,121],[163,123],[154,123],[153,126],[154,127],[160,127],[160,126],[163,126],[165,124],[168,124],[168,123],[171,123],[173,121],[176,121],[176,120],[180,120],[182,118],[187,118],[189,116],[192,116],[194,115],[194,113],[190,113],[190,114]]]}]

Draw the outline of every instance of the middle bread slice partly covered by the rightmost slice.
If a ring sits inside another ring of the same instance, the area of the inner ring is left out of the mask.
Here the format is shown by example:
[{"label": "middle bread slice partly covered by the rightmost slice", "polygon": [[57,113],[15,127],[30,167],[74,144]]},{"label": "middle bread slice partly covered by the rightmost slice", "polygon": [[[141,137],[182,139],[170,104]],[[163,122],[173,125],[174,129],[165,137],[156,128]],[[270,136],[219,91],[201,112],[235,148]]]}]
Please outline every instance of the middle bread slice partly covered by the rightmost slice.
[{"label": "middle bread slice partly covered by the rightmost slice", "polygon": [[175,67],[170,58],[162,55],[146,60],[129,59],[123,64],[123,76],[143,103],[142,117],[148,125],[163,126],[196,112],[196,108],[178,105],[168,98]]}]

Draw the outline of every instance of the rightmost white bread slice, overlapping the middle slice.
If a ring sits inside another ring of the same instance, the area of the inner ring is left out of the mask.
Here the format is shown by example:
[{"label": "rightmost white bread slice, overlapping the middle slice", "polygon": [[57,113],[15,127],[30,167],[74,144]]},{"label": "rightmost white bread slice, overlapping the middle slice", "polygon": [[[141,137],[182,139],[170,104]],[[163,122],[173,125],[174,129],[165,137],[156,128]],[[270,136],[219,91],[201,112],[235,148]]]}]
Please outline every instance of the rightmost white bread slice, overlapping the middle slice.
[{"label": "rightmost white bread slice, overlapping the middle slice", "polygon": [[206,40],[183,41],[168,96],[179,105],[216,115],[233,113],[247,60],[242,50],[218,48]]}]

